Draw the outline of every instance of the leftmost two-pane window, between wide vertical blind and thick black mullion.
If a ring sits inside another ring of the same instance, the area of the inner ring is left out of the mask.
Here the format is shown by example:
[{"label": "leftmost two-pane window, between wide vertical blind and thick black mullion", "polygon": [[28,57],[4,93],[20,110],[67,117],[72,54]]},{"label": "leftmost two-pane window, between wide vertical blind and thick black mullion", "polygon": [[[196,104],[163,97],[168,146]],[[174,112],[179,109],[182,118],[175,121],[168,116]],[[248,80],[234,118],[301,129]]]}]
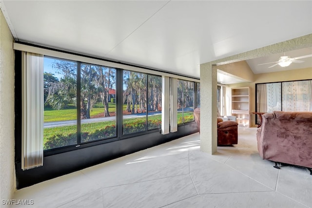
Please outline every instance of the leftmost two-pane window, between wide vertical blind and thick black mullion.
[{"label": "leftmost two-pane window, between wide vertical blind and thick black mullion", "polygon": [[116,69],[44,57],[43,76],[44,150],[117,135]]}]

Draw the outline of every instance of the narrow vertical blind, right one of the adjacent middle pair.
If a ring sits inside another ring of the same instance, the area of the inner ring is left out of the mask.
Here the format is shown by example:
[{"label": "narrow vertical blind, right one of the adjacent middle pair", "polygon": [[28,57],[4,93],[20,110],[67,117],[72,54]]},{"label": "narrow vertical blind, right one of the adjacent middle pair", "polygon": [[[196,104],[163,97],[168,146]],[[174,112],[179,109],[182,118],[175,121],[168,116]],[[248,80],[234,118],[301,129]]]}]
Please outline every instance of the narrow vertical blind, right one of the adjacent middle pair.
[{"label": "narrow vertical blind, right one of the adjacent middle pair", "polygon": [[170,77],[170,132],[177,132],[177,78]]}]

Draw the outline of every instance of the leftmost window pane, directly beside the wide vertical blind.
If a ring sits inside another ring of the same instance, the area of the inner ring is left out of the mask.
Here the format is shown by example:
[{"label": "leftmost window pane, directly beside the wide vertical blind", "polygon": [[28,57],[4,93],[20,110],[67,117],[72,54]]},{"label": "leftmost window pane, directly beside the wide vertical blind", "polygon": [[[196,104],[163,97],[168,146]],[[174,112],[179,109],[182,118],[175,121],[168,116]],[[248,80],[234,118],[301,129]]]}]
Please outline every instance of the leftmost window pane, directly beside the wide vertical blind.
[{"label": "leftmost window pane, directly beside the wide vertical blind", "polygon": [[44,57],[43,149],[77,144],[77,62]]}]

